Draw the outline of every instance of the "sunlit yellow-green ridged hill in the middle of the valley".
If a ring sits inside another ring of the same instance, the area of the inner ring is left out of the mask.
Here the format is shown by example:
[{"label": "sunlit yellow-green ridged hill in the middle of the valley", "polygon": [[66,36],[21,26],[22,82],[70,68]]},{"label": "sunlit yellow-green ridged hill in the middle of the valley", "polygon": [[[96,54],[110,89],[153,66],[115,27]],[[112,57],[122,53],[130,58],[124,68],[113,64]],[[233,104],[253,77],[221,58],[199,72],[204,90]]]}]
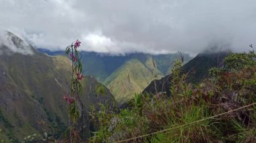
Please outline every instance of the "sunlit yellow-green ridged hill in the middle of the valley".
[{"label": "sunlit yellow-green ridged hill in the middle of the valley", "polygon": [[[148,62],[148,68],[152,68]],[[140,93],[153,79],[159,79],[162,74],[158,70],[150,71],[139,60],[129,60],[119,67],[105,81],[104,85],[119,103],[131,99],[134,93]]]}]

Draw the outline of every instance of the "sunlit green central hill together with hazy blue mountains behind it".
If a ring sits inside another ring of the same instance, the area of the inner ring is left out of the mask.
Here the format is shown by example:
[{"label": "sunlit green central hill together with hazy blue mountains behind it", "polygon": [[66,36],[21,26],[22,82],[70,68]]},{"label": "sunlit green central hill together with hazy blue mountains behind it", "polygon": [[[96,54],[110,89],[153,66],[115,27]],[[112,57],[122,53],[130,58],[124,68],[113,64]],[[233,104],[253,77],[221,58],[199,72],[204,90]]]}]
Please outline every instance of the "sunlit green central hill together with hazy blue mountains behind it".
[{"label": "sunlit green central hill together with hazy blue mountains behind it", "polygon": [[[38,49],[49,55],[64,55],[64,51],[51,52]],[[102,82],[119,103],[131,99],[134,93],[140,93],[152,80],[170,74],[172,64],[178,53],[173,54],[125,54],[110,55],[96,52],[81,52],[84,74]],[[184,54],[185,62],[191,59]]]}]

